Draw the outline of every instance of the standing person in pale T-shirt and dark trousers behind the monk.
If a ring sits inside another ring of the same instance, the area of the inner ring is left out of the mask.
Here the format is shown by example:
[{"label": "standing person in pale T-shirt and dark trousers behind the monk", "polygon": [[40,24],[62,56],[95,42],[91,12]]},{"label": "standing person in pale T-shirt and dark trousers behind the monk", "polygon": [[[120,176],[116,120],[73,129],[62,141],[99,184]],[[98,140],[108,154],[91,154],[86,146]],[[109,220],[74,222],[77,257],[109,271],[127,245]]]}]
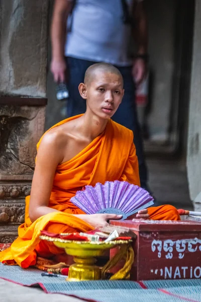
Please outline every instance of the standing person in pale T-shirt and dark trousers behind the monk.
[{"label": "standing person in pale T-shirt and dark trousers behind the monk", "polygon": [[[131,34],[137,42],[134,59],[128,55]],[[86,110],[78,85],[90,65],[107,62],[122,73],[125,95],[113,120],[134,132],[141,187],[149,191],[135,104],[135,84],[143,81],[147,62],[143,0],[55,0],[51,40],[54,81],[66,82],[69,90],[68,117]]]}]

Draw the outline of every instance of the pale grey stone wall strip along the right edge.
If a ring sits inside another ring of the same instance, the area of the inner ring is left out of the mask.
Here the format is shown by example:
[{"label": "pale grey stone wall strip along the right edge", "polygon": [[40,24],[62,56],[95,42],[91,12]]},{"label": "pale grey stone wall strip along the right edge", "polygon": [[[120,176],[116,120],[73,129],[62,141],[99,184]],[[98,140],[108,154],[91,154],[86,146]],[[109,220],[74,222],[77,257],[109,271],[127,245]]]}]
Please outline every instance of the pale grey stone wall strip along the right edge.
[{"label": "pale grey stone wall strip along the right edge", "polygon": [[201,211],[201,2],[196,0],[191,92],[188,127],[187,172],[190,198]]}]

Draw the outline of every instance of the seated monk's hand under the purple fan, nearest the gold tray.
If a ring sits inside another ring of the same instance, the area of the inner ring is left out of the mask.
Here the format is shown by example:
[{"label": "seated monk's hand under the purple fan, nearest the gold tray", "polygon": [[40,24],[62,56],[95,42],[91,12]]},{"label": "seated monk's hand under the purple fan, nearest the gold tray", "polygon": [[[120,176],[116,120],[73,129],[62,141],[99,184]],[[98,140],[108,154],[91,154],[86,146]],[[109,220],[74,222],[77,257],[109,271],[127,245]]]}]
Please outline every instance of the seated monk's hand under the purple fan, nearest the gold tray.
[{"label": "seated monk's hand under the purple fan, nearest the gold tray", "polygon": [[109,225],[109,223],[107,222],[108,220],[122,218],[122,215],[117,214],[90,214],[83,216],[81,217],[81,219],[93,226],[93,228],[95,229],[103,228],[104,226]]}]

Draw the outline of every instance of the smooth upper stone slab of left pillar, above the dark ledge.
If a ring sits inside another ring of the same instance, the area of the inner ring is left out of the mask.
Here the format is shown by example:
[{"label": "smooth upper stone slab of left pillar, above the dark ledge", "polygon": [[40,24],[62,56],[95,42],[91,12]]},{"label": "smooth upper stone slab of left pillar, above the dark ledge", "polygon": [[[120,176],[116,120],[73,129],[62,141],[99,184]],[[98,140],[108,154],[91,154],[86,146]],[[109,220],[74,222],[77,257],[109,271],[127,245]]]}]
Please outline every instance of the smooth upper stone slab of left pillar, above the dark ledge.
[{"label": "smooth upper stone slab of left pillar, above the dark ledge", "polygon": [[45,97],[48,0],[0,5],[0,92]]}]

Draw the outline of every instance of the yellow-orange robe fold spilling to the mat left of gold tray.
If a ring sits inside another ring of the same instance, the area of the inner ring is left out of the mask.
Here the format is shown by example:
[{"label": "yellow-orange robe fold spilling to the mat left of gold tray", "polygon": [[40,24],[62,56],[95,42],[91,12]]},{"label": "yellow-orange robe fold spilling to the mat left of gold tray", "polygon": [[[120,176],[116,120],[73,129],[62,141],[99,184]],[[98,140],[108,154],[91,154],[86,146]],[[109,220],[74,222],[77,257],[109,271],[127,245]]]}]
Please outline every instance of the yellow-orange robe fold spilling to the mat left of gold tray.
[{"label": "yellow-orange robe fold spilling to the mat left of gold tray", "polygon": [[[35,220],[28,228],[25,223],[21,224],[18,229],[19,237],[14,241],[11,247],[0,253],[0,260],[8,264],[18,264],[24,268],[36,264],[37,251],[39,256],[50,257],[53,254],[61,254],[62,250],[57,249],[52,244],[40,246],[41,230],[53,231],[54,233],[62,232],[87,232],[92,230],[91,226],[83,220],[67,213],[52,212],[41,216]],[[42,249],[41,249],[42,248]],[[41,252],[41,253],[40,253]],[[52,253],[53,252],[53,253]],[[41,255],[43,253],[43,255]]]}]

